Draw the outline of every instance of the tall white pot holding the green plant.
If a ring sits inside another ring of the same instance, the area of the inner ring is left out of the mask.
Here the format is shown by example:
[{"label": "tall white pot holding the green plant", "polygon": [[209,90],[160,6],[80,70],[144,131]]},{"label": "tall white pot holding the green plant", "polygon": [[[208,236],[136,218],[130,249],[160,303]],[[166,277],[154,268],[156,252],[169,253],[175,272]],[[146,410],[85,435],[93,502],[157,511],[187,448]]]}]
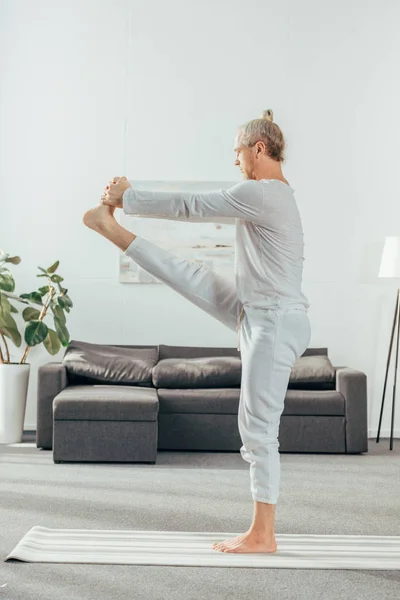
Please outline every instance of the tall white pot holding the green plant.
[{"label": "tall white pot holding the green plant", "polygon": [[0,444],[22,442],[30,364],[0,364]]}]

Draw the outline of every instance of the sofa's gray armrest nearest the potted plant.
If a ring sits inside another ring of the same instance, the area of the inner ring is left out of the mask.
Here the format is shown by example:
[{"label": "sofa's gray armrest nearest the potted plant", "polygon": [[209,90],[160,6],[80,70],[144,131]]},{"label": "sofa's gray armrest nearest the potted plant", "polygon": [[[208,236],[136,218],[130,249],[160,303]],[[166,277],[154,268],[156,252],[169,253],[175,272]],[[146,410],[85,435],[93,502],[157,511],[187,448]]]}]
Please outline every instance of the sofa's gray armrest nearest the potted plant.
[{"label": "sofa's gray armrest nearest the potted plant", "polygon": [[36,447],[53,447],[53,400],[68,385],[67,370],[60,362],[41,365],[38,370]]}]

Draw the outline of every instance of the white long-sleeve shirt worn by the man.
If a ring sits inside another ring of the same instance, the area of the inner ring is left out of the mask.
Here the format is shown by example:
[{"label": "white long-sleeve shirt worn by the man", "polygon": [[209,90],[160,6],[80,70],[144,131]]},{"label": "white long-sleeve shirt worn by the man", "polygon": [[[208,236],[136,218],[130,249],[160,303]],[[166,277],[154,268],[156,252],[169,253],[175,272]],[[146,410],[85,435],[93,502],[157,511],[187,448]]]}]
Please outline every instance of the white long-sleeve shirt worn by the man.
[{"label": "white long-sleeve shirt worn by the man", "polygon": [[195,222],[236,222],[235,277],[242,304],[309,307],[301,291],[303,228],[294,190],[277,179],[247,180],[227,190],[151,192],[128,188],[126,214]]}]

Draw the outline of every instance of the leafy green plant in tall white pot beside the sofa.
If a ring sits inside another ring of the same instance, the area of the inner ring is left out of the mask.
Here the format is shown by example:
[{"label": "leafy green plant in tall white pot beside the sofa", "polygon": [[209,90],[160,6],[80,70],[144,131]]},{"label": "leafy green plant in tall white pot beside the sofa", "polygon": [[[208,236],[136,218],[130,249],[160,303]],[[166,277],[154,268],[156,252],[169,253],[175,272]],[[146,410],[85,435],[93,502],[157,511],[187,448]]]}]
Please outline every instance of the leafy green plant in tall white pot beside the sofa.
[{"label": "leafy green plant in tall white pot beside the sofa", "polygon": [[[18,265],[19,256],[0,251],[0,443],[13,444],[22,441],[30,363],[26,362],[29,350],[43,343],[49,354],[57,354],[61,346],[68,346],[69,332],[66,315],[73,304],[68,290],[61,285],[63,277],[56,273],[59,261],[48,269],[39,267],[37,277],[45,277],[47,284],[38,290],[17,296],[15,281],[7,263]],[[18,326],[13,314],[19,313],[15,304],[25,304],[22,324]],[[52,316],[54,329],[45,318]],[[23,335],[20,333],[23,329]],[[23,352],[19,362],[12,360],[9,344]]]}]

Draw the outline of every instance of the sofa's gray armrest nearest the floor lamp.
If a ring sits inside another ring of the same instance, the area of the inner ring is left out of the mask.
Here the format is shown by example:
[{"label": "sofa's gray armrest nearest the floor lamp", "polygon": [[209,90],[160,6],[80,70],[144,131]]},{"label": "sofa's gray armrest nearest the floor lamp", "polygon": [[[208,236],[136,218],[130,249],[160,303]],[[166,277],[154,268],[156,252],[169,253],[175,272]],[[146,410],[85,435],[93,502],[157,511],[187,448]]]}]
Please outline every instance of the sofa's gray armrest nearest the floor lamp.
[{"label": "sofa's gray armrest nearest the floor lamp", "polygon": [[346,452],[368,452],[367,376],[349,367],[337,367],[336,390],[344,396]]}]

